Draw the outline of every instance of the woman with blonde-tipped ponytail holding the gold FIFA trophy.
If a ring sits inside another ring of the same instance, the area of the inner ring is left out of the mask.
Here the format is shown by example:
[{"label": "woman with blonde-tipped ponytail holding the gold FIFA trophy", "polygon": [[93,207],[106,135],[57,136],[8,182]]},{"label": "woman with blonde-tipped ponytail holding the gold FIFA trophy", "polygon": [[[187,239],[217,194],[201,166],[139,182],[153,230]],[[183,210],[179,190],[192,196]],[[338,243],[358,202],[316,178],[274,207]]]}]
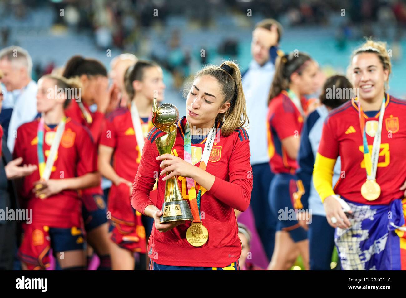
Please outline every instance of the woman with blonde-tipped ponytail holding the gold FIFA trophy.
[{"label": "woman with blonde-tipped ponytail holding the gold FIFA trophy", "polygon": [[[176,121],[176,107],[154,105],[155,129],[133,184],[132,206],[155,221],[150,269],[239,270],[242,247],[234,209],[248,208],[252,169],[238,65],[226,61],[199,71],[186,110]],[[149,192],[157,177],[153,202]]]}]

